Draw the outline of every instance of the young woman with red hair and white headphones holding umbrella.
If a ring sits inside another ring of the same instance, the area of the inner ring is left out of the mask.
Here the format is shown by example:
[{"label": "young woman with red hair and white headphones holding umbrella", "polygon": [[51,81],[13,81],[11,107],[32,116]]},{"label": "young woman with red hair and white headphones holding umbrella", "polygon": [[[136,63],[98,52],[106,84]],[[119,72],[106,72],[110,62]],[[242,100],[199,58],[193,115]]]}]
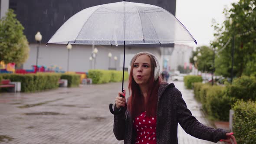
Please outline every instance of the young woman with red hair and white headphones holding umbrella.
[{"label": "young woman with red hair and white headphones holding umbrella", "polygon": [[128,68],[131,96],[126,103],[124,92],[118,92],[114,110],[125,107],[125,113],[114,115],[114,134],[124,144],[178,144],[178,123],[190,135],[212,142],[231,141],[233,133],[209,128],[192,116],[174,84],[159,77],[159,62],[149,52],[137,53]]}]

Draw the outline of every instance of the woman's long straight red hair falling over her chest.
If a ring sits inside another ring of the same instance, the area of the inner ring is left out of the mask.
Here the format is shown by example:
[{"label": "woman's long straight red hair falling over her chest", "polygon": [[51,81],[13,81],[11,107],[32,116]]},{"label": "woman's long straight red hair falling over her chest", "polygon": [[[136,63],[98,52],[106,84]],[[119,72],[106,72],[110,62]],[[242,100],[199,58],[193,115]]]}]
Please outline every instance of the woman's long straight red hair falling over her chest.
[{"label": "woman's long straight red hair falling over her chest", "polygon": [[[147,55],[150,58],[151,62],[151,77],[148,82],[148,95],[147,98],[144,100],[144,96],[141,93],[139,85],[135,82],[132,76],[133,70],[133,63],[138,58],[138,56]],[[146,117],[149,116],[156,116],[157,110],[157,102],[158,102],[158,88],[163,79],[161,76],[158,76],[157,80],[154,80],[154,68],[157,67],[157,64],[154,60],[154,57],[148,53],[140,53],[135,55],[131,60],[131,71],[129,75],[128,81],[128,90],[131,94],[127,107],[128,111],[131,114],[132,118],[140,115],[141,112],[146,111]]]}]

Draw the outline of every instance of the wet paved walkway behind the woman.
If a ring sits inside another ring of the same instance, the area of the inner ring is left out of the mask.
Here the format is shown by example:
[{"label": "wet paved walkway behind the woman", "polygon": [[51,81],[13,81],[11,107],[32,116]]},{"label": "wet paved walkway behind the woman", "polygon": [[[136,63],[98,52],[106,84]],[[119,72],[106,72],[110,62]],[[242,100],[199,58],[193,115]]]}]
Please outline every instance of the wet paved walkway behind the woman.
[{"label": "wet paved walkway behind the woman", "polygon": [[[200,111],[193,91],[174,82],[192,114],[212,126]],[[124,85],[127,90],[127,82]],[[113,134],[114,103],[121,83],[80,85],[37,93],[0,93],[0,144],[122,144]],[[179,144],[216,144],[186,134]],[[221,143],[219,143],[221,144]]]}]

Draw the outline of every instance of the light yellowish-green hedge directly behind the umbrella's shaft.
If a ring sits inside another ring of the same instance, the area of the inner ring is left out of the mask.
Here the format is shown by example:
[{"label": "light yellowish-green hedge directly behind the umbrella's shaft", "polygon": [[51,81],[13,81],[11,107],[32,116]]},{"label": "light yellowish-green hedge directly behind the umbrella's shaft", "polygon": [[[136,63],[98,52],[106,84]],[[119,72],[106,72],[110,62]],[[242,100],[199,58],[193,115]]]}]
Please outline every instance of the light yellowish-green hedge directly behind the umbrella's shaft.
[{"label": "light yellowish-green hedge directly behind the umbrella's shaft", "polygon": [[[123,71],[114,70],[89,70],[88,78],[92,79],[93,84],[102,84],[108,82],[121,82],[123,78]],[[128,72],[125,72],[124,80],[128,79]]]}]

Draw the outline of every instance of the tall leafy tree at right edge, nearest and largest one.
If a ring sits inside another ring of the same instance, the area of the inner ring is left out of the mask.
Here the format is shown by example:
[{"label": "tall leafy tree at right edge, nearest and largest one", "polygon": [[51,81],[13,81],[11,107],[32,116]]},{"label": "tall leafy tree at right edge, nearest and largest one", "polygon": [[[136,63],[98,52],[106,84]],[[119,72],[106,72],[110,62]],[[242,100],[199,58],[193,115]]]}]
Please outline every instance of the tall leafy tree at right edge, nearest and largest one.
[{"label": "tall leafy tree at right edge, nearest and largest one", "polygon": [[230,76],[231,72],[231,44],[235,38],[234,47],[234,75],[250,75],[256,72],[256,0],[240,0],[232,4],[230,10],[224,9],[226,20],[223,24],[213,22],[214,36],[218,56],[216,57],[216,73]]}]

